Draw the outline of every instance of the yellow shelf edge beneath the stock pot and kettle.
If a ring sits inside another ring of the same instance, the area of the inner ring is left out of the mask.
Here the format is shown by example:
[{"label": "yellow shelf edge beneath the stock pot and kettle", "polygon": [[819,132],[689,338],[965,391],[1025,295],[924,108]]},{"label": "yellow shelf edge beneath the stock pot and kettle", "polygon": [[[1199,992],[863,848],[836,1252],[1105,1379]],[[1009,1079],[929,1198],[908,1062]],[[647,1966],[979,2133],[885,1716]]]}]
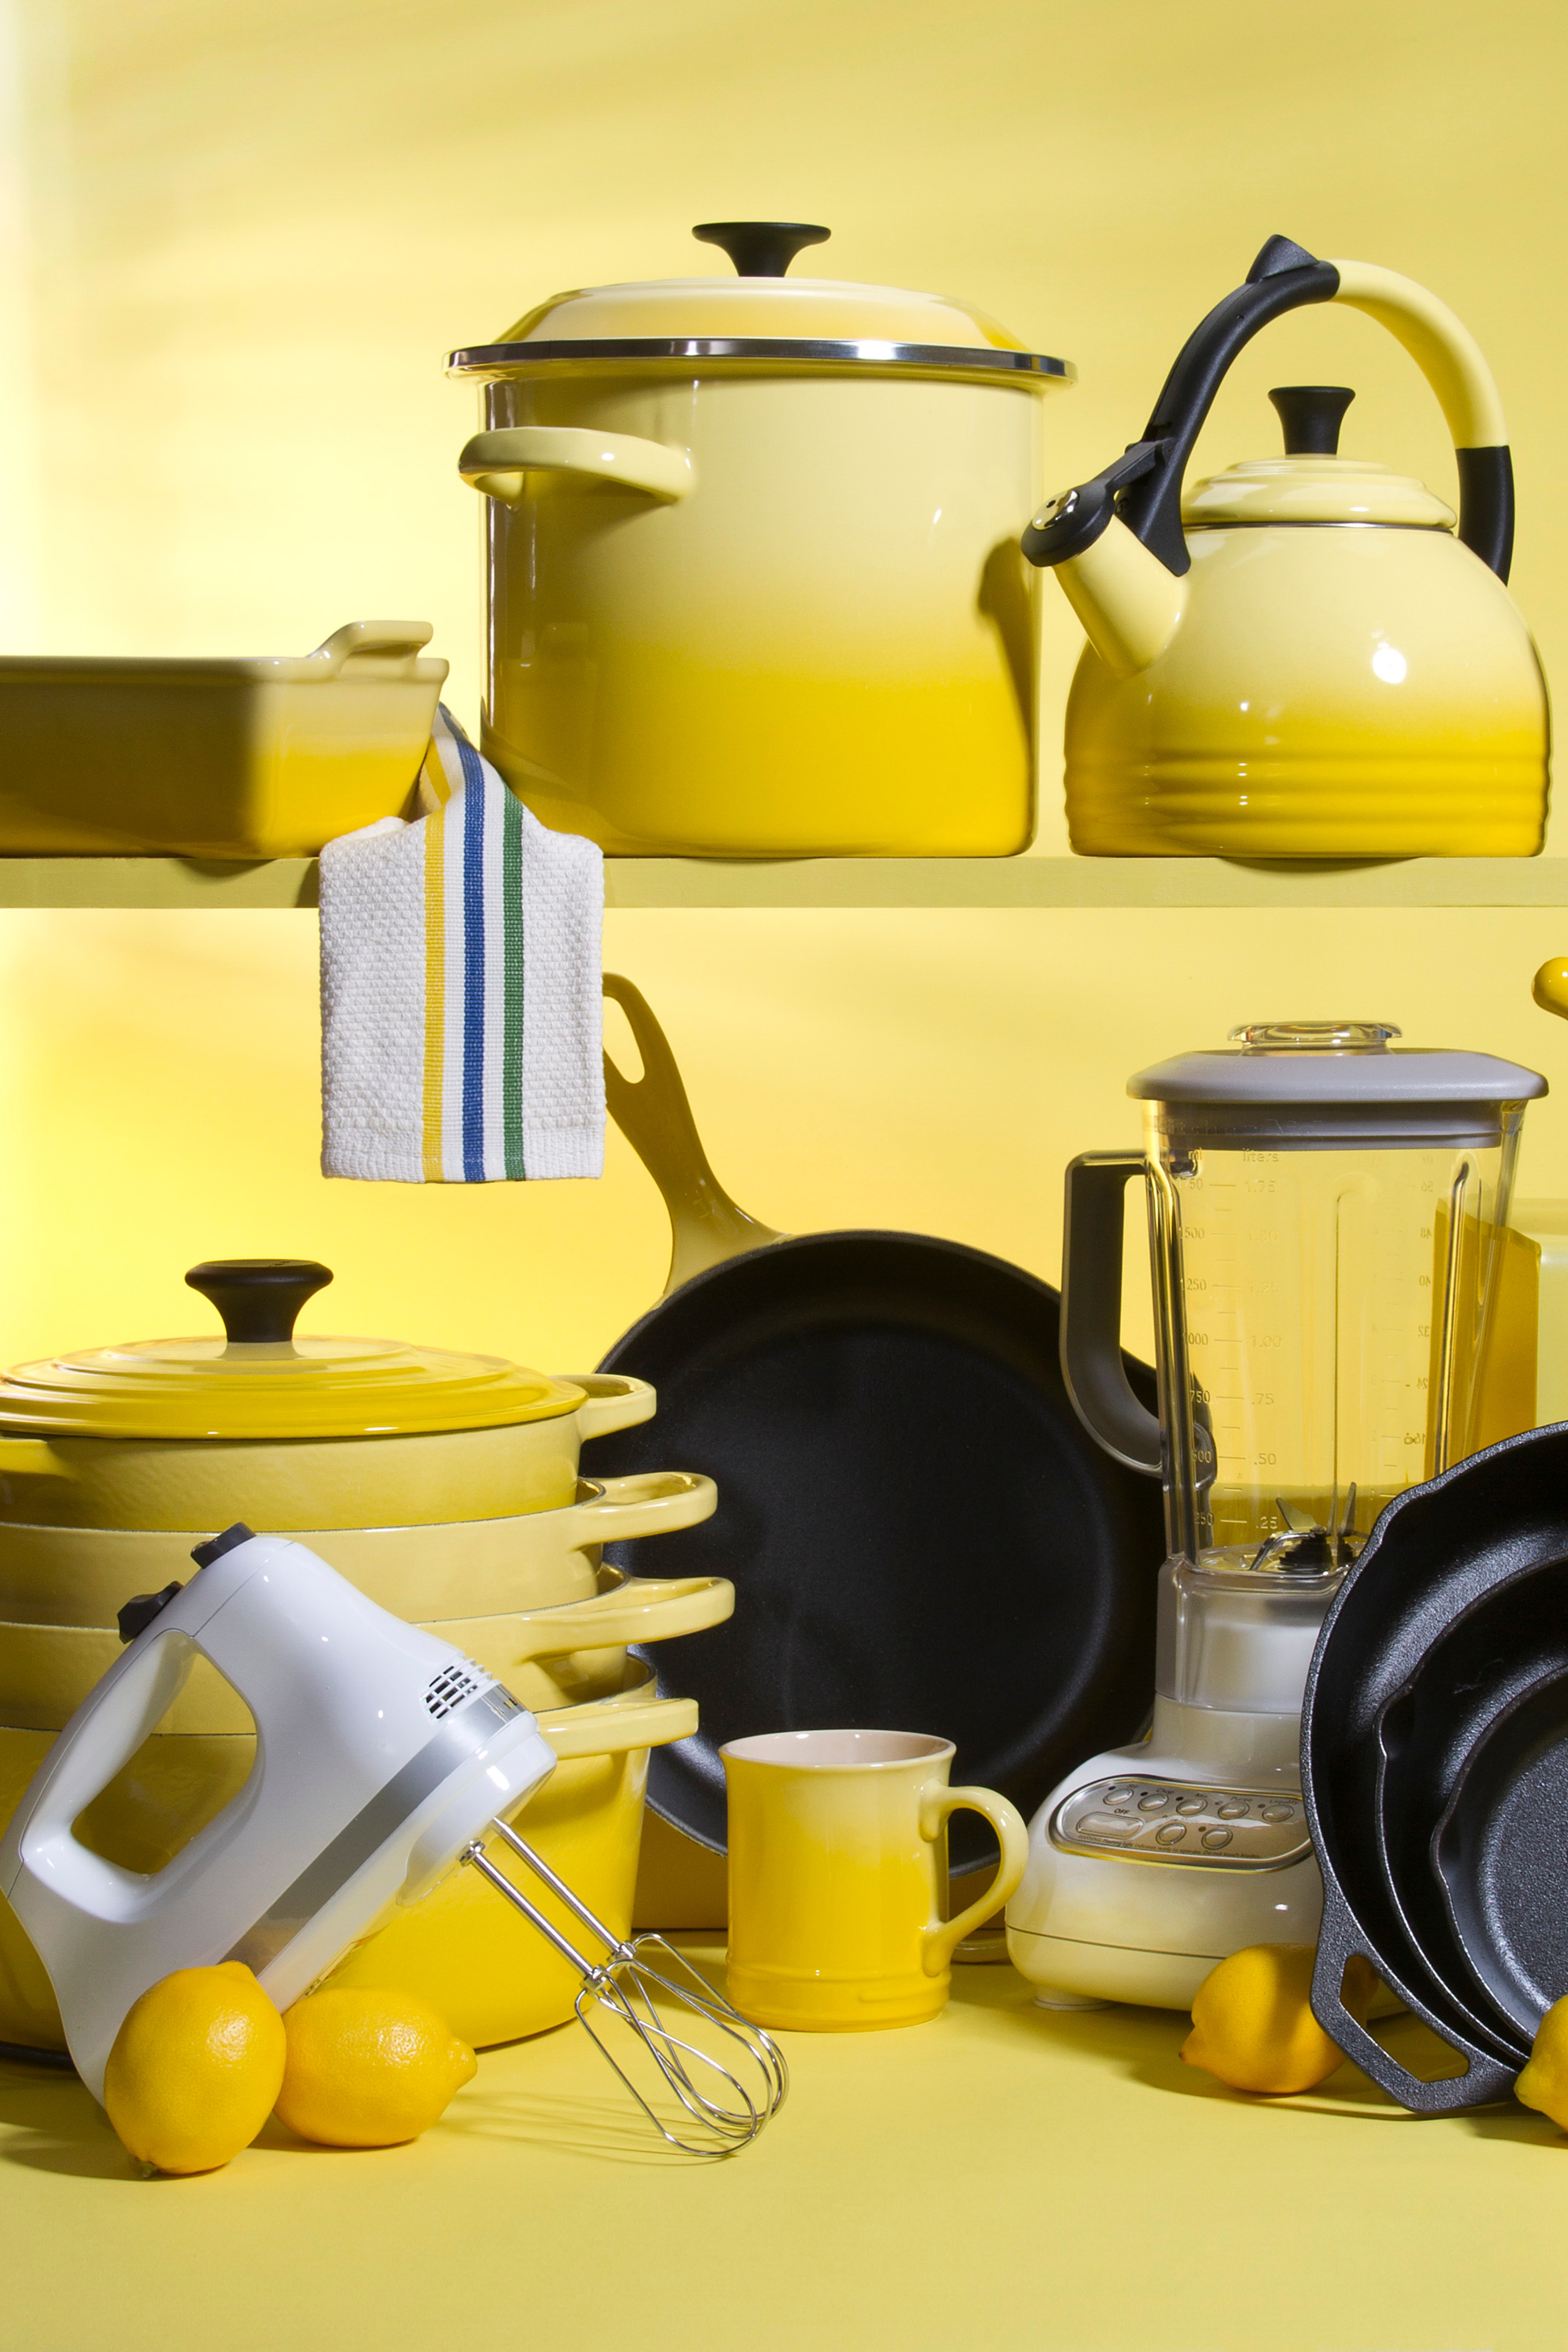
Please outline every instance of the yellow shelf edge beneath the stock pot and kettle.
[{"label": "yellow shelf edge beneath the stock pot and kettle", "polygon": [[[607,858],[604,901],[651,906],[1540,906],[1568,858],[1234,866],[1220,858]],[[315,906],[315,858],[0,858],[5,906]]]}]

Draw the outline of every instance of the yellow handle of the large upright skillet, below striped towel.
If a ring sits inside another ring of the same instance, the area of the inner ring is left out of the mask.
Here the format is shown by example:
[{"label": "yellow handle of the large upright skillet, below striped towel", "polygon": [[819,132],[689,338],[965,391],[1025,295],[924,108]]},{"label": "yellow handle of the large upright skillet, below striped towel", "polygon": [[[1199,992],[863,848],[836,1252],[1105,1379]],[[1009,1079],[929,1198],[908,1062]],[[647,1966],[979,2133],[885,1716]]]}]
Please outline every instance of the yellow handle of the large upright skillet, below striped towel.
[{"label": "yellow handle of the large upright skillet, below striped towel", "polygon": [[623,1009],[642,1054],[637,1082],[625,1077],[609,1054],[604,1056],[604,1101],[670,1211],[668,1298],[691,1275],[724,1265],[726,1258],[762,1249],[766,1242],[783,1242],[783,1235],[738,1209],[708,1167],[675,1054],[642,990],[623,981],[618,971],[607,971],[604,995]]}]

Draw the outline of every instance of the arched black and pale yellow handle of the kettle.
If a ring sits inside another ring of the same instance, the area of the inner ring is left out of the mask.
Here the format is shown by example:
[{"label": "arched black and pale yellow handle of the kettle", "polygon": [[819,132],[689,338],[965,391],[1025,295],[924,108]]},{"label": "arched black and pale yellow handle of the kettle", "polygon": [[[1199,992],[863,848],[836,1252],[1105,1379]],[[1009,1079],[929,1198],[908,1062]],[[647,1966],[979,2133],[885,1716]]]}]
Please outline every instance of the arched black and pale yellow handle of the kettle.
[{"label": "arched black and pale yellow handle of the kettle", "polygon": [[[1436,393],[1460,468],[1460,541],[1497,574],[1514,555],[1514,461],[1502,402],[1474,339],[1436,296],[1366,261],[1316,261],[1291,238],[1269,238],[1246,285],[1215,303],[1182,343],[1154,412],[1126,456],[1095,482],[1053,499],[1023,534],[1032,564],[1060,564],[1095,543],[1114,513],[1150,555],[1180,579],[1192,557],[1182,536],[1182,477],[1225,372],[1260,327],[1307,303],[1366,310],[1403,343]],[[1112,475],[1117,480],[1112,480]],[[1110,494],[1100,494],[1110,489]]]}]

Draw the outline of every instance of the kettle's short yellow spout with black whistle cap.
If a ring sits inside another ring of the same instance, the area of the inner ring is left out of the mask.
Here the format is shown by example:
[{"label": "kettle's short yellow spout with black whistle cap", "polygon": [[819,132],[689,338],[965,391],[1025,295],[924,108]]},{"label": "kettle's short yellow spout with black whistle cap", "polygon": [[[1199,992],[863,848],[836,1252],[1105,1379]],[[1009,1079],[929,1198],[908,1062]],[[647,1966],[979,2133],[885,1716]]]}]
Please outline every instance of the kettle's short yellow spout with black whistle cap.
[{"label": "kettle's short yellow spout with black whistle cap", "polygon": [[1154,473],[1164,445],[1133,442],[1126,456],[1041,506],[1023,534],[1032,564],[1056,572],[1095,654],[1114,677],[1159,661],[1187,609],[1187,579],[1150,553],[1117,513],[1117,496]]}]

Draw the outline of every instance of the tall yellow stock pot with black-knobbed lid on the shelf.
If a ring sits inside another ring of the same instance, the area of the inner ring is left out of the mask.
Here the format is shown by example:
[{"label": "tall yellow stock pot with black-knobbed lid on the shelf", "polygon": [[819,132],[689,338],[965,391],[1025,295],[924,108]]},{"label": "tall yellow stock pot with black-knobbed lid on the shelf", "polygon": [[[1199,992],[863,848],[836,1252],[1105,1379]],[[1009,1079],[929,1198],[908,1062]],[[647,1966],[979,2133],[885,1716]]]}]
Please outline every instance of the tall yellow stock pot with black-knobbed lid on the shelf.
[{"label": "tall yellow stock pot with black-knobbed lid on the shelf", "polygon": [[621,856],[1006,856],[1034,826],[1039,400],[966,301],[738,275],[557,294],[484,386],[484,753]]}]

